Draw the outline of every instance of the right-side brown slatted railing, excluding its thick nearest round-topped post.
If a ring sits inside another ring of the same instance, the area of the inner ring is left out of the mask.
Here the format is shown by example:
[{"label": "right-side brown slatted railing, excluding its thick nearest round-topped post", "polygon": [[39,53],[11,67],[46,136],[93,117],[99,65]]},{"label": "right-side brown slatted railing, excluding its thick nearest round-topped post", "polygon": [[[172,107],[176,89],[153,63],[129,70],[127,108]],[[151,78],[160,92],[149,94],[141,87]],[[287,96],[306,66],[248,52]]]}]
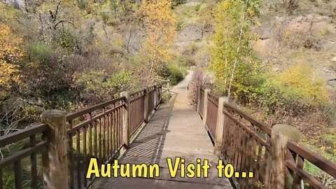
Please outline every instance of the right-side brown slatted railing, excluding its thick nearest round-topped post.
[{"label": "right-side brown slatted railing, excluding its thick nearest round-topped post", "polygon": [[[221,109],[218,104],[218,97],[211,92],[204,91],[204,88],[199,87],[199,99],[197,102],[200,103],[200,107],[197,105],[197,111],[203,119],[206,119],[203,121],[206,123],[206,128],[209,130],[213,140],[215,141],[216,139],[218,141],[216,137],[221,137],[219,141],[222,141],[222,144],[215,144],[215,151],[216,145],[221,145],[221,157],[225,158],[226,162],[231,163],[236,172],[255,170],[253,179],[237,179],[238,188],[239,186],[244,188],[246,185],[258,188],[258,183],[265,184],[266,188],[269,187],[270,183],[268,183],[269,180],[267,178],[269,178],[270,166],[272,166],[269,165],[269,158],[273,155],[270,142],[272,128],[228,102],[221,102],[223,103],[223,117],[218,117],[220,114],[214,109],[214,106],[218,110]],[[205,94],[208,94],[207,97],[205,97]],[[207,111],[204,111],[205,109]],[[207,113],[207,115],[203,115],[204,113]],[[209,120],[209,118],[223,119],[224,121],[217,122],[214,125],[214,121]],[[218,125],[218,123],[223,125]],[[218,127],[223,127],[223,133],[217,133]],[[302,181],[312,188],[325,188],[322,183],[323,179],[304,170],[304,160],[336,179],[335,162],[327,160],[294,141],[288,142],[286,151],[288,153],[285,165],[287,170],[289,170],[286,174],[293,176],[294,188],[300,186]],[[266,181],[267,183],[265,183]]]}]

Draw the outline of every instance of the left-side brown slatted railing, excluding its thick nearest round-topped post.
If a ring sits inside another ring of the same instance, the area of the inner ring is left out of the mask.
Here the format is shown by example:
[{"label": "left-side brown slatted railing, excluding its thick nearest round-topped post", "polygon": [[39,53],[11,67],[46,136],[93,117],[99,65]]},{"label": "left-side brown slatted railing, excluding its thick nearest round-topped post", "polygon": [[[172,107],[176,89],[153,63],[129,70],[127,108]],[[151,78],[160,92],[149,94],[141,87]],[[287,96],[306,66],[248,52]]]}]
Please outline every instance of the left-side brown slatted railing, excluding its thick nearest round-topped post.
[{"label": "left-side brown slatted railing, excluding its thick nearest round-topped post", "polygon": [[[87,179],[82,171],[83,167],[87,169],[90,158],[97,158],[99,163],[103,164],[116,158],[121,148],[129,147],[127,145],[130,143],[130,137],[135,137],[141,124],[147,121],[148,115],[158,108],[162,92],[165,92],[162,91],[162,84],[152,85],[147,87],[147,90],[145,88],[132,93],[124,94],[123,92],[123,97],[69,113],[63,117],[66,123],[62,118],[57,117],[63,121],[63,128],[68,125],[64,137],[66,137],[66,150],[68,151],[68,165],[66,166],[69,167],[69,188],[90,186],[94,178]],[[128,128],[127,132],[125,128]],[[22,150],[6,155],[3,160],[0,160],[0,189],[7,187],[3,182],[3,176],[5,176],[3,170],[6,170],[6,175],[8,175],[7,169],[10,165],[14,165],[15,189],[22,188],[22,175],[27,173],[22,172],[23,168],[20,163],[23,162],[22,158],[28,156],[31,160],[31,188],[37,188],[38,181],[43,179],[37,169],[40,156],[36,155],[41,154],[44,160],[49,161],[50,140],[48,137],[52,137],[49,134],[55,133],[52,130],[53,127],[43,123],[0,137],[0,148],[7,148],[9,144],[16,145],[19,142],[26,145]],[[64,137],[61,137],[60,141]],[[50,171],[45,166],[48,164],[43,164],[43,169]]]}]

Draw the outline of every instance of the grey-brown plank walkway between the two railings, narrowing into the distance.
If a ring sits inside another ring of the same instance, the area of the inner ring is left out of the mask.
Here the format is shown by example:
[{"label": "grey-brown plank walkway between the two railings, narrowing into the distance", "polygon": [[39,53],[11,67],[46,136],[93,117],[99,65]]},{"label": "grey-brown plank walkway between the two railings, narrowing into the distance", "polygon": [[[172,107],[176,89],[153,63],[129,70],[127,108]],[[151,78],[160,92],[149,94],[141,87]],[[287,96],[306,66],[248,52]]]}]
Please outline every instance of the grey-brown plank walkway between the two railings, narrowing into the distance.
[{"label": "grey-brown plank walkway between the two railings, narrowing into the distance", "polygon": [[[146,163],[160,165],[160,177],[155,179],[96,179],[93,188],[232,188],[228,179],[219,179],[214,146],[202,125],[200,116],[188,106],[186,87],[190,74],[176,85],[172,100],[160,106],[149,123],[134,139],[131,148],[120,158],[120,164]],[[181,157],[186,165],[196,163],[197,158],[209,160],[208,178],[176,178],[169,174],[166,158]]]}]

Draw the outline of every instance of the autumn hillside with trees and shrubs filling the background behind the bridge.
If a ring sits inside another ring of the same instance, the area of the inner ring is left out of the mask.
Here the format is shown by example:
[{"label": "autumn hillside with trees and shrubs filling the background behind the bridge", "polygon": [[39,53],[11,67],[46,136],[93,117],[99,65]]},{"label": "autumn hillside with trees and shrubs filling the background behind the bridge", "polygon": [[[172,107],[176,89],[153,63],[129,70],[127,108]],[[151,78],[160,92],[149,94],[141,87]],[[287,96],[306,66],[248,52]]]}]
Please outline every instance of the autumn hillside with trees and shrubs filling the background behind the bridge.
[{"label": "autumn hillside with trees and shrubs filling the background behind the bridge", "polygon": [[336,0],[0,0],[0,12],[0,136],[193,69],[190,104],[201,83],[336,162]]}]

